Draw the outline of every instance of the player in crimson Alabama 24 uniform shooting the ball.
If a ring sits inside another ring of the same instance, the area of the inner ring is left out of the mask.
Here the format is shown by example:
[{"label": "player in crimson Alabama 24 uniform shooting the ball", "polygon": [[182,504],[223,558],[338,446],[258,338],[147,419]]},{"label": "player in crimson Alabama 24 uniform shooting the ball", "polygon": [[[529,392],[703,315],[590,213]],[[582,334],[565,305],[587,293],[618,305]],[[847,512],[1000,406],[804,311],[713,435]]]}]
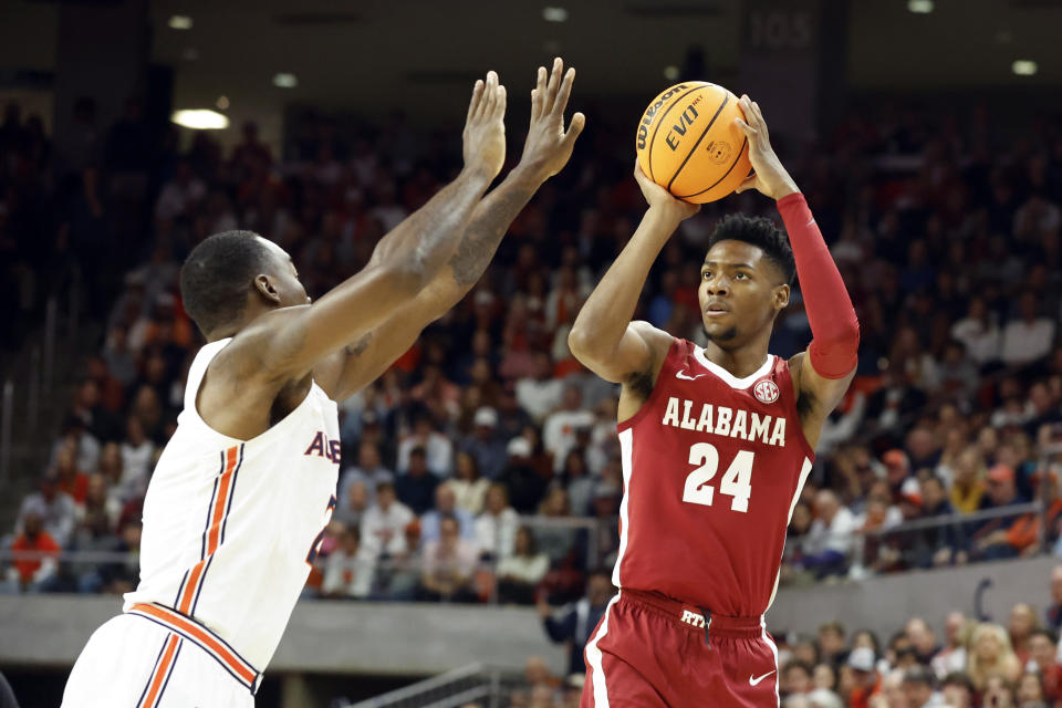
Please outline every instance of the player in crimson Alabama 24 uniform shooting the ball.
[{"label": "player in crimson Alabama 24 uniform shooting the ball", "polygon": [[[759,106],[740,106],[756,176],[739,191],[777,200],[788,242],[766,219],[719,223],[698,293],[705,348],[632,322],[649,267],[697,210],[636,170],[649,208],[569,337],[581,362],[623,384],[620,594],[586,645],[583,708],[779,701],[763,613],[823,420],[854,375],[858,323]],[[813,341],[787,362],[768,344],[794,269]]]}]

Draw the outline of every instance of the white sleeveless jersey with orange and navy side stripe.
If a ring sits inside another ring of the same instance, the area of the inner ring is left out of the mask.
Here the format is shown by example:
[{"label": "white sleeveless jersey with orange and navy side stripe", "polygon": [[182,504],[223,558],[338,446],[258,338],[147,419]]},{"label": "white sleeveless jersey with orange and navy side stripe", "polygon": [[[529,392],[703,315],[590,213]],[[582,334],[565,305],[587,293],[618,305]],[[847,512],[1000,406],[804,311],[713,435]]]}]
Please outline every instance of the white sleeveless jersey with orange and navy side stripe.
[{"label": "white sleeveless jersey with orange and navy side stripe", "polygon": [[124,611],[154,603],[206,626],[262,671],[288,625],[335,508],[335,402],[313,384],[283,420],[250,440],[221,435],[196,408],[210,361],[188,373],[185,409],[144,500],[140,583]]}]

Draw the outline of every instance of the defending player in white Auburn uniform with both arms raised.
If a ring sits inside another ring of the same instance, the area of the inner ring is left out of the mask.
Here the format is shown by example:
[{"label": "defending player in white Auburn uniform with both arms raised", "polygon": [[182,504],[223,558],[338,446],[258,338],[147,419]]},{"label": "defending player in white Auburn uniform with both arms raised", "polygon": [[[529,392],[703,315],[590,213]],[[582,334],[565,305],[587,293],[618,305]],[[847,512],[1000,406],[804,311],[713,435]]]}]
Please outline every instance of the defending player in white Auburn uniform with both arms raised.
[{"label": "defending player in white Auburn uniform with both arms raised", "polygon": [[[562,76],[563,74],[563,76]],[[246,231],[181,269],[204,332],[185,409],[144,502],[140,583],[74,665],[63,706],[252,706],[335,506],[335,402],[361,389],[479,279],[517,214],[571,157],[574,71],[540,67],[517,167],[501,170],[506,90],[476,82],[465,168],[310,304],[291,259]]]}]

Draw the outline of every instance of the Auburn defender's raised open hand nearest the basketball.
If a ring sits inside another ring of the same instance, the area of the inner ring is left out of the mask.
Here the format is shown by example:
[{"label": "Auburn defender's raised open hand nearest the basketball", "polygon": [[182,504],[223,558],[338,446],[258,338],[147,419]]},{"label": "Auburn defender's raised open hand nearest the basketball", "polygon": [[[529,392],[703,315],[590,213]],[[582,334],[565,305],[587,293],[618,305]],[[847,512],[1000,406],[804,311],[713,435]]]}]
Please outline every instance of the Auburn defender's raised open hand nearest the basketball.
[{"label": "Auburn defender's raised open hand nearest the basketball", "polygon": [[[563,74],[563,79],[561,77]],[[586,125],[586,116],[576,113],[564,129],[564,110],[572,93],[575,70],[564,73],[564,62],[553,60],[553,70],[549,81],[544,66],[539,66],[538,85],[531,92],[531,127],[523,144],[521,167],[531,170],[541,180],[549,179],[561,171],[572,156],[575,138]]]}]

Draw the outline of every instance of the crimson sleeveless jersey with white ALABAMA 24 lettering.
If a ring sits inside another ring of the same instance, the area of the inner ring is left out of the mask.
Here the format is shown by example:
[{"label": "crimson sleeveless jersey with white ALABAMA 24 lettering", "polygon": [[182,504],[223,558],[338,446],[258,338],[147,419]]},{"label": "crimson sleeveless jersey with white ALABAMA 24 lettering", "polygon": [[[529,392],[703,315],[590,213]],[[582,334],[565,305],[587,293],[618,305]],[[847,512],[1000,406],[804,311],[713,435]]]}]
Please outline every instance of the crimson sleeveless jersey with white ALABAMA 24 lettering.
[{"label": "crimson sleeveless jersey with white ALABAMA 24 lettering", "polygon": [[814,459],[789,362],[768,355],[739,379],[676,339],[653,393],[618,430],[613,583],[721,615],[763,614]]}]

